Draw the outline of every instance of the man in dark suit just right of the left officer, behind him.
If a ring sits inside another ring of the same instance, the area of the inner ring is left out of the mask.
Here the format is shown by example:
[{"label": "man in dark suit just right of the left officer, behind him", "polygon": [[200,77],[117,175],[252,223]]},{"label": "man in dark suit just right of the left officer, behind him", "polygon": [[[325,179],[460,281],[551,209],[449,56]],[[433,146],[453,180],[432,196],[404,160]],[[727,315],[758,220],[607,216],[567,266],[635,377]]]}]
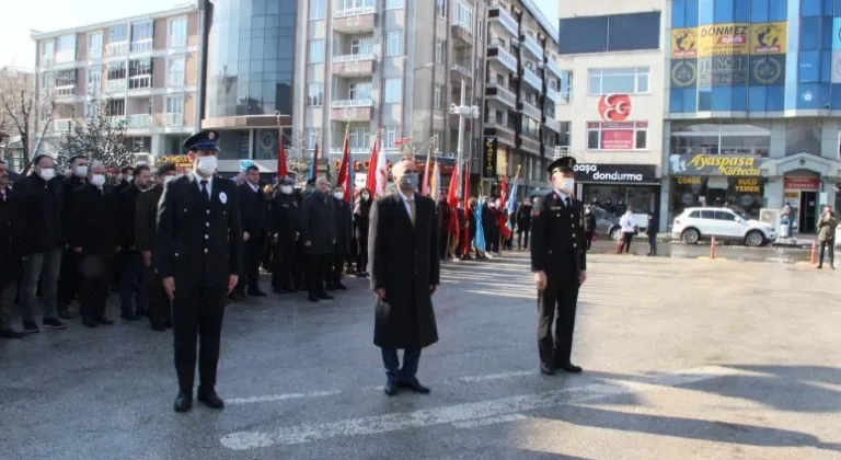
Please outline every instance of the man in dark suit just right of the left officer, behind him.
[{"label": "man in dark suit just right of the left officer, behind him", "polygon": [[245,276],[237,285],[234,300],[245,298],[245,285],[249,296],[266,297],[260,290],[260,262],[266,244],[268,230],[268,198],[260,187],[260,169],[254,164],[245,170],[245,181],[238,187],[240,194],[240,215],[242,216],[242,241]]}]

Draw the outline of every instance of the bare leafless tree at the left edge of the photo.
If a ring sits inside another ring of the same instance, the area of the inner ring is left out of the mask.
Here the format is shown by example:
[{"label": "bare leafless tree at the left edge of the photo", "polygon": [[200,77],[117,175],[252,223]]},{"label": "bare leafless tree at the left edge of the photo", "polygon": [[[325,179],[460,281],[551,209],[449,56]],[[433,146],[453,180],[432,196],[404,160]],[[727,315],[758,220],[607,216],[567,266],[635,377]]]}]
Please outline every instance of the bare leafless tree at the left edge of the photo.
[{"label": "bare leafless tree at the left edge of the photo", "polygon": [[[49,129],[56,110],[51,95],[38,99],[35,93],[35,74],[10,67],[0,69],[0,131],[15,138],[23,151],[23,172],[32,165],[32,159],[41,152],[44,135]],[[38,112],[43,126],[38,126]]]}]

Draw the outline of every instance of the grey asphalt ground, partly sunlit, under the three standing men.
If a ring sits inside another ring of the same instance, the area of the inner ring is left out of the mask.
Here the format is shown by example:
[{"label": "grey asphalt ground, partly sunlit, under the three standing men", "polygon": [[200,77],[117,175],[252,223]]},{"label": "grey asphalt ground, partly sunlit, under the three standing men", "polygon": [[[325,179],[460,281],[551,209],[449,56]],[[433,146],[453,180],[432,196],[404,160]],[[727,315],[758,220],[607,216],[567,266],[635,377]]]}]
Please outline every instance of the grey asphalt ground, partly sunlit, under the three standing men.
[{"label": "grey asphalt ground, partly sunlit, under the three standing men", "polygon": [[228,406],[187,414],[170,334],[73,321],[0,342],[0,459],[839,459],[838,276],[594,254],[585,372],[545,377],[525,254],[447,264],[433,393],[395,398],[365,281],[314,306],[250,300],[227,312]]}]

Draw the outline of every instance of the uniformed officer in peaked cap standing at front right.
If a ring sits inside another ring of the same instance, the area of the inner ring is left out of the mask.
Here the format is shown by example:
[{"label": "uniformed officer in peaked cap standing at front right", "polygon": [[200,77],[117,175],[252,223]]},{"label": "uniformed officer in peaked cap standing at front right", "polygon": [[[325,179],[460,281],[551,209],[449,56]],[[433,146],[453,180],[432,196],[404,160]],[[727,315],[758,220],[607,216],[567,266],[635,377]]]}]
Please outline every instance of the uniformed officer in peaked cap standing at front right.
[{"label": "uniformed officer in peaked cap standing at front right", "polygon": [[[540,371],[578,373],[573,350],[578,289],[587,279],[584,204],[574,198],[575,159],[561,157],[549,165],[553,191],[545,195],[531,225],[531,271],[538,286]],[[554,320],[555,331],[552,332]]]}]

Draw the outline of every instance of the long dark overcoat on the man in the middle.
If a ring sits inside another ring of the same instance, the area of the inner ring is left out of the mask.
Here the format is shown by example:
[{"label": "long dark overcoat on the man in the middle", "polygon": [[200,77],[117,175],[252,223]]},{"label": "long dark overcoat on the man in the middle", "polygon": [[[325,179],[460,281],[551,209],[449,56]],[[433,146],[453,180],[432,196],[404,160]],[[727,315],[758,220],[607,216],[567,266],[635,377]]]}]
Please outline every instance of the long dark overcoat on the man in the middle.
[{"label": "long dark overcoat on the man in the middle", "polygon": [[438,342],[430,286],[440,283],[435,202],[415,195],[415,225],[400,194],[371,207],[368,263],[371,289],[384,289],[376,302],[373,344],[423,348]]}]

